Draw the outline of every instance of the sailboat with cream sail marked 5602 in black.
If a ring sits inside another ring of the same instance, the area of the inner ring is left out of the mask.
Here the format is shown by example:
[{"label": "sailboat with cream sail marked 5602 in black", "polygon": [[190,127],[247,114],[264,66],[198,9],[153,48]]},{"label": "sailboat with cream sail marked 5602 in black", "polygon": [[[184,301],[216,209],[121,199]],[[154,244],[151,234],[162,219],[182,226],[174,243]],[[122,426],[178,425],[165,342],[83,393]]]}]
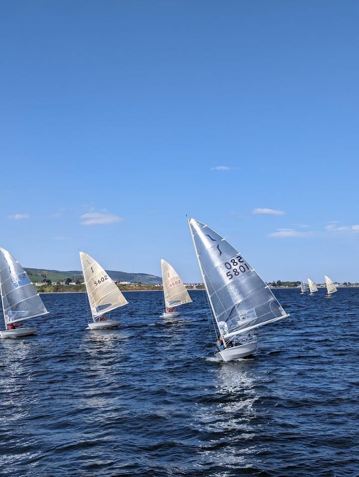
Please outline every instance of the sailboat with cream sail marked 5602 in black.
[{"label": "sailboat with cream sail marked 5602 in black", "polygon": [[93,323],[89,322],[89,329],[103,330],[119,326],[120,320],[110,320],[104,314],[126,305],[127,300],[96,260],[85,252],[80,252],[80,260],[93,319]]}]

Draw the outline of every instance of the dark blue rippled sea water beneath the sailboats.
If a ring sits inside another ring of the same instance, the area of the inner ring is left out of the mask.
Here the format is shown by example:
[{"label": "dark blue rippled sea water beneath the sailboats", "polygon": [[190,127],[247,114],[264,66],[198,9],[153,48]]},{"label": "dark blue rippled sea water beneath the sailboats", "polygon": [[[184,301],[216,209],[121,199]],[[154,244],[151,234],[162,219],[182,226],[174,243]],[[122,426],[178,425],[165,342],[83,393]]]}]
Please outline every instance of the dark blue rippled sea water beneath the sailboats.
[{"label": "dark blue rippled sea water beneath the sailboats", "polygon": [[0,475],[359,476],[359,289],[274,293],[291,317],[229,363],[202,291],[176,322],[125,293],[107,332],[84,294],[42,295],[38,336],[0,340]]}]

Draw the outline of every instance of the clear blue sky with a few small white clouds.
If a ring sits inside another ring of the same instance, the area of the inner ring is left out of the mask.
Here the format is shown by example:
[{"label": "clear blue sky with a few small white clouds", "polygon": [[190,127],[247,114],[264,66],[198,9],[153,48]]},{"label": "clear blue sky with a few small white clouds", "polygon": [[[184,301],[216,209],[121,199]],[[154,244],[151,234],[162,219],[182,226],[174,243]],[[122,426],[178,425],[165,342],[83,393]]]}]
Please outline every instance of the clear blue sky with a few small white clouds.
[{"label": "clear blue sky with a few small white clouds", "polygon": [[0,2],[0,246],[202,281],[359,282],[357,1]]}]

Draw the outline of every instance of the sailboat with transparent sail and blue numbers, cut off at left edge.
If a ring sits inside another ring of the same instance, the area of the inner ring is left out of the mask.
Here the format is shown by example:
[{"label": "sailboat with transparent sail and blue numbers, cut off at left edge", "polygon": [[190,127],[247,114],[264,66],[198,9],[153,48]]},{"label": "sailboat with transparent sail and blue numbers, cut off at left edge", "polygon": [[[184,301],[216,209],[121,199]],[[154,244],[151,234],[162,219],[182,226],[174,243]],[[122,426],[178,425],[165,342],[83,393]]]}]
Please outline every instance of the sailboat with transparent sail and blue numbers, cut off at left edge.
[{"label": "sailboat with transparent sail and blue numbers, cut off at left edge", "polygon": [[4,248],[0,248],[0,293],[6,328],[0,331],[1,338],[36,335],[37,328],[23,328],[17,322],[48,311],[25,270]]}]

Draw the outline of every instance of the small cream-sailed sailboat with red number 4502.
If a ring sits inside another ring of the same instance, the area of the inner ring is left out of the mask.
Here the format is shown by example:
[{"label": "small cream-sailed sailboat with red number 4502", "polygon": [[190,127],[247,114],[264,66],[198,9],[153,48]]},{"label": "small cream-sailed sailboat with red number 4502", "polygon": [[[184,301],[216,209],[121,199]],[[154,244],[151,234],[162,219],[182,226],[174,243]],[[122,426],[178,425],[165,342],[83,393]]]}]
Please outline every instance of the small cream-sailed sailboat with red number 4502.
[{"label": "small cream-sailed sailboat with red number 4502", "polygon": [[179,316],[180,313],[174,308],[185,303],[191,303],[191,297],[175,269],[163,258],[161,258],[161,271],[166,306],[162,316],[167,318]]}]

